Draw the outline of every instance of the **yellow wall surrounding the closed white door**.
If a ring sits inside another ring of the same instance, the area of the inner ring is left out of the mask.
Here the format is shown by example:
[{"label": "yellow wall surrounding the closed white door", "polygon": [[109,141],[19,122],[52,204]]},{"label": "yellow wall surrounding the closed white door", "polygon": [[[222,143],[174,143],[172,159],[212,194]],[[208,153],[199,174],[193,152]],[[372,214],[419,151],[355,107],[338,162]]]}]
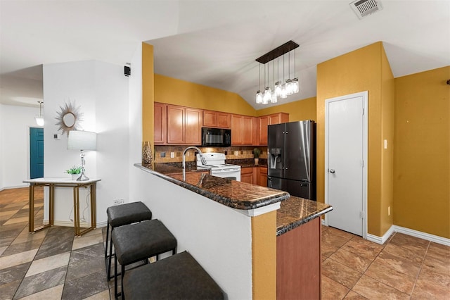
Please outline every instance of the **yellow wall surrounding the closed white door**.
[{"label": "yellow wall surrounding the closed white door", "polygon": [[[388,93],[383,93],[382,87],[390,89],[388,82],[384,82],[389,79],[387,70],[383,72],[383,68],[387,66],[382,42],[317,65],[317,199],[324,201],[325,101],[337,96],[368,91],[368,233],[376,236],[383,236],[385,233],[382,227],[385,227],[384,223],[387,220],[381,220],[381,209],[390,201],[388,196],[387,199],[383,199],[382,183],[387,179],[383,181],[381,167],[382,96]],[[388,170],[385,169],[384,172],[388,173]]]}]

